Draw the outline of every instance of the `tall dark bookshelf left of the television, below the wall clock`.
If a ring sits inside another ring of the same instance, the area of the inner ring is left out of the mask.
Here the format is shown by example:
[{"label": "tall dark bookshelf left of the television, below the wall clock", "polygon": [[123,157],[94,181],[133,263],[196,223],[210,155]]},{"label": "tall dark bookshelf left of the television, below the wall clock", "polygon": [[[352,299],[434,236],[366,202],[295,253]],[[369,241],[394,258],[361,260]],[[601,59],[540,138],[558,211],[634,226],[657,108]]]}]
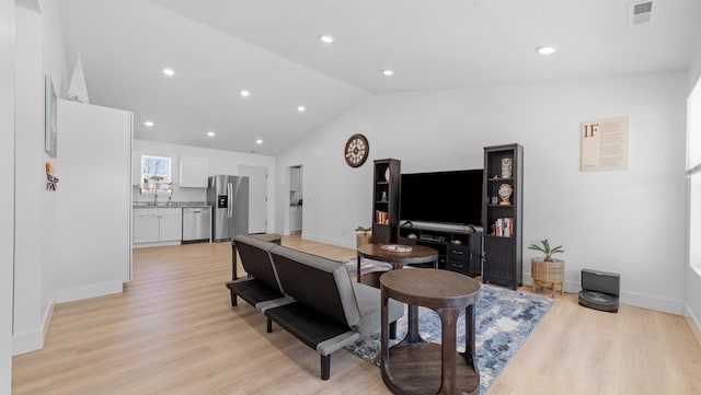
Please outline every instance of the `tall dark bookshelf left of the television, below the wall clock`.
[{"label": "tall dark bookshelf left of the television, below the wall clock", "polygon": [[397,243],[401,162],[375,160],[372,174],[372,243]]}]

